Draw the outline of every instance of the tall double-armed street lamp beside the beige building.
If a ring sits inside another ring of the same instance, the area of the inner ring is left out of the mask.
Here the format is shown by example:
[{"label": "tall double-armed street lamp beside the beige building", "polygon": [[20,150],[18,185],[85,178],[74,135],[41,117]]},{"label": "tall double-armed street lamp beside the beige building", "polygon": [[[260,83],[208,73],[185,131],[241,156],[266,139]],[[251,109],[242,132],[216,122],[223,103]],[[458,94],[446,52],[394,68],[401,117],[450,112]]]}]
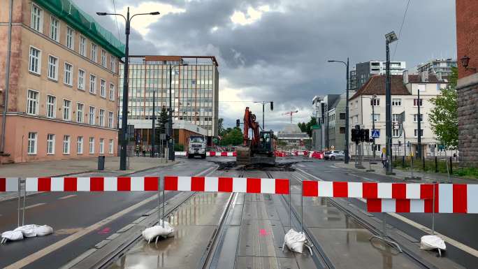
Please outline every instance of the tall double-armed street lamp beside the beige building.
[{"label": "tall double-armed street lamp beside the beige building", "polygon": [[128,71],[129,71],[129,29],[131,20],[134,16],[137,15],[159,15],[159,12],[151,13],[138,13],[129,17],[129,7],[126,13],[126,17],[122,14],[117,13],[106,13],[106,12],[97,12],[96,15],[106,16],[106,15],[118,15],[124,18],[126,21],[125,34],[126,34],[126,48],[124,49],[124,75],[123,75],[123,110],[122,110],[122,121],[121,121],[121,150],[119,152],[119,170],[126,170],[126,147],[128,141],[126,140],[126,131],[128,127]]}]

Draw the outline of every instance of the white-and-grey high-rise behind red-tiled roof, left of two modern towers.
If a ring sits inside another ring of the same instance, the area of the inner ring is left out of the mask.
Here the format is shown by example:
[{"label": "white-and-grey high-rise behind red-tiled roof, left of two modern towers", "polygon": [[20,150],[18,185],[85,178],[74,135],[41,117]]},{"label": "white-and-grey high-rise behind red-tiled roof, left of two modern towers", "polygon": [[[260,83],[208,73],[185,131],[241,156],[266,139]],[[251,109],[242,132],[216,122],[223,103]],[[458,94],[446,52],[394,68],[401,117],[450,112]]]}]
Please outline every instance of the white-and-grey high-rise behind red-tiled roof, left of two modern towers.
[{"label": "white-and-grey high-rise behind red-tiled roof, left of two modern towers", "polygon": [[[356,72],[356,83],[351,86],[355,88],[351,89],[356,91],[360,89],[365,82],[368,81],[372,75],[384,75],[386,68],[386,61],[365,61],[355,65]],[[390,62],[390,73],[391,75],[402,75],[403,71],[406,70],[405,61],[391,61]]]}]

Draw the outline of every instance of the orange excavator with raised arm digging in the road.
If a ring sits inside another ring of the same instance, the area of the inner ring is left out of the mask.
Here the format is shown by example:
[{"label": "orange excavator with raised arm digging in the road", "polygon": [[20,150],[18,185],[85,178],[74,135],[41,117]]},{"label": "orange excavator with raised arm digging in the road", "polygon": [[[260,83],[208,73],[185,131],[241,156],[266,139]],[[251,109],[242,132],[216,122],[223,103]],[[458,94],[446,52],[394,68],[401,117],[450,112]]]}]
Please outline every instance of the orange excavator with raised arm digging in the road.
[{"label": "orange excavator with raised arm digging in the road", "polygon": [[[249,128],[252,129],[252,139],[249,140]],[[237,148],[236,163],[247,165],[252,163],[275,164],[275,139],[274,132],[259,131],[259,122],[256,122],[256,115],[249,110],[244,112],[244,141],[242,146]]]}]

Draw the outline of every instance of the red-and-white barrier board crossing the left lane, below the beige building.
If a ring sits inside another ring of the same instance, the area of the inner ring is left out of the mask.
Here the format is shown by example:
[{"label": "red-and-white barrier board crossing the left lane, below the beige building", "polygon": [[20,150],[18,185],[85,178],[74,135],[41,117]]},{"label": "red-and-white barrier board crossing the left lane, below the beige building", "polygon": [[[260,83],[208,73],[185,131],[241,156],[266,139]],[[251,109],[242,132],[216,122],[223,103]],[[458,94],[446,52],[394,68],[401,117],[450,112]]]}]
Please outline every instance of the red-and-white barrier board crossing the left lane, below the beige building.
[{"label": "red-and-white barrier board crossing the left lane, below the beige building", "polygon": [[27,177],[27,191],[157,191],[159,177]]}]

